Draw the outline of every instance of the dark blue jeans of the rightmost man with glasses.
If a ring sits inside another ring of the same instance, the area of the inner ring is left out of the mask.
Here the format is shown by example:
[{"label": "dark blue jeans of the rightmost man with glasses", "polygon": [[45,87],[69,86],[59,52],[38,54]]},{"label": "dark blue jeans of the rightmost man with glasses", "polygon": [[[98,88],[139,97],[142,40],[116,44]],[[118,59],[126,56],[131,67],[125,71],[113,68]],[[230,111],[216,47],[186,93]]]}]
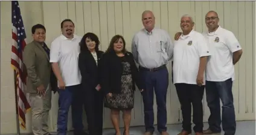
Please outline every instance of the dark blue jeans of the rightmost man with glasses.
[{"label": "dark blue jeans of the rightmost man with glasses", "polygon": [[[214,132],[220,132],[222,122],[225,135],[235,134],[235,109],[232,95],[232,79],[223,82],[206,81],[206,100],[211,115],[208,119],[209,127]],[[222,101],[222,119],[220,118],[220,100]]]}]

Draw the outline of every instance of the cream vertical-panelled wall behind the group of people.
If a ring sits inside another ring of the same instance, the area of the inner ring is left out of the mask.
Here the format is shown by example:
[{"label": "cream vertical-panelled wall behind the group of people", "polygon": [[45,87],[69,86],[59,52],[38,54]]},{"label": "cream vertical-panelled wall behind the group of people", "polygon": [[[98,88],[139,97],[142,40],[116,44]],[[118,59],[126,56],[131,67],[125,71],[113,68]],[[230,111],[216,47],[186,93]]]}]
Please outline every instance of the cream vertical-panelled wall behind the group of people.
[{"label": "cream vertical-panelled wall behind the group of people", "polygon": [[[224,8],[225,7],[225,8]],[[229,29],[242,44],[243,56],[235,65],[236,80],[234,82],[234,104],[237,119],[254,118],[254,93],[252,70],[254,5],[252,2],[230,1],[205,1],[205,2],[175,2],[175,1],[85,1],[85,2],[43,2],[43,14],[45,26],[51,29],[47,33],[47,42],[50,43],[60,34],[60,22],[69,18],[75,23],[75,31],[78,35],[86,32],[94,32],[101,41],[101,50],[106,50],[109,40],[115,34],[124,36],[127,49],[133,34],[142,28],[141,13],[144,10],[152,10],[156,17],[156,27],[165,29],[173,38],[174,34],[181,31],[179,20],[183,14],[190,14],[196,22],[196,31],[206,31],[205,14],[209,10],[217,11],[220,17],[220,25]],[[171,71],[170,65],[169,73]],[[171,74],[170,74],[171,80]],[[54,100],[54,99],[53,99]],[[57,101],[57,99],[55,100]],[[57,102],[56,102],[57,104]],[[207,121],[210,111],[204,98],[204,121]],[[174,85],[171,84],[167,93],[167,123],[181,122],[181,111]],[[57,114],[57,113],[56,113]],[[144,125],[143,104],[140,93],[136,92],[135,108],[132,113],[131,125]],[[54,121],[57,116],[53,115]],[[155,103],[156,118],[156,103]],[[156,123],[156,121],[155,121]],[[123,125],[123,124],[121,124]],[[104,127],[112,127],[109,119],[109,109],[104,109]]]}]

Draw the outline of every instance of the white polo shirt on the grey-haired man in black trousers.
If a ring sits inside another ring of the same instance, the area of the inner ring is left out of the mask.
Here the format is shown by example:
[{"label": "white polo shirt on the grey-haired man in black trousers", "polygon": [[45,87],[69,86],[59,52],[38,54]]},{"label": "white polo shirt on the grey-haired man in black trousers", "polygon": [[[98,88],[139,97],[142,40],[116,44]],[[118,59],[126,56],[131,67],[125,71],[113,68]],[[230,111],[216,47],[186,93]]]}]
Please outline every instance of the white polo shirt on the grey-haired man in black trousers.
[{"label": "white polo shirt on the grey-haired man in black trousers", "polygon": [[[174,41],[173,83],[196,85],[200,57],[210,55],[202,34],[192,30],[188,35],[181,35],[178,41]],[[203,79],[205,84],[205,77]]]}]

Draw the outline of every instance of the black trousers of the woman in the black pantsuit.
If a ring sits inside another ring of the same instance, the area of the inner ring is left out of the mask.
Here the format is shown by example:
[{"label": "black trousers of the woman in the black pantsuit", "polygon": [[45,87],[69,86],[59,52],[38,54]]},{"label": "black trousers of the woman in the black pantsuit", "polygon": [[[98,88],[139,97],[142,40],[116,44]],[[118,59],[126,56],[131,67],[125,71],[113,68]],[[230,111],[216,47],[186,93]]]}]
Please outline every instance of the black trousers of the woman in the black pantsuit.
[{"label": "black trousers of the woman in the black pantsuit", "polygon": [[83,88],[84,104],[90,135],[103,134],[103,92]]}]

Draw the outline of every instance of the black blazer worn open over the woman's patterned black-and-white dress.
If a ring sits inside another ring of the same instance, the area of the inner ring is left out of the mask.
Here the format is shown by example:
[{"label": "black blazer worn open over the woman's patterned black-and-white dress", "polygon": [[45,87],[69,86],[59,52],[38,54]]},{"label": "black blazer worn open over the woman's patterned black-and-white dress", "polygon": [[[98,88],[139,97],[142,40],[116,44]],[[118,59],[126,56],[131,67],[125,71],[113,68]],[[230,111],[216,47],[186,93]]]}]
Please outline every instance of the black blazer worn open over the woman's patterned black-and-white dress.
[{"label": "black blazer worn open over the woman's patterned black-and-white dress", "polygon": [[[139,76],[138,68],[136,67],[133,55],[130,52],[124,54],[127,61],[132,68],[132,80],[135,89],[135,83],[139,89],[142,89],[141,78]],[[123,73],[123,65],[121,59],[115,54],[114,51],[105,53],[102,61],[102,74],[101,74],[101,89],[105,94],[109,92],[118,94],[121,92],[121,76]]]}]

